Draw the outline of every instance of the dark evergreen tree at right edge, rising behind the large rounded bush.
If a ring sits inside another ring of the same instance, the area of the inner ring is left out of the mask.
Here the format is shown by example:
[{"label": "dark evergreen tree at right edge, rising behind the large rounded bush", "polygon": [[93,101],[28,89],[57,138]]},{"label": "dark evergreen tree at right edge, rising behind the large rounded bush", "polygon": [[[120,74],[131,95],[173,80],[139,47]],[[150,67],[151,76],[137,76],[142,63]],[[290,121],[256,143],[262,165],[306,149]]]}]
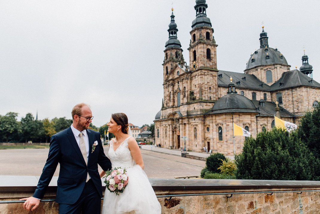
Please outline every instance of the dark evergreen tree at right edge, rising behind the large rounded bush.
[{"label": "dark evergreen tree at right edge, rising behind the large rounded bush", "polygon": [[307,111],[300,120],[298,136],[313,152],[316,158],[320,159],[320,106],[313,111]]}]

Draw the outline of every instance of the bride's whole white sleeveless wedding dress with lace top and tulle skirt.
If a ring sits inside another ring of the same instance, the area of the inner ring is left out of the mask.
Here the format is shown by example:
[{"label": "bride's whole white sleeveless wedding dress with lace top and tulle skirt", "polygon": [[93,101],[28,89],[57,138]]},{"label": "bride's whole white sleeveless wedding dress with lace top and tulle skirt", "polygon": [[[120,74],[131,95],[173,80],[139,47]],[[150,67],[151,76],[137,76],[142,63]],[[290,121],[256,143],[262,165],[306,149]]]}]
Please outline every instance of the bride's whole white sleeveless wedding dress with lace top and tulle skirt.
[{"label": "bride's whole white sleeveless wedding dress with lace top and tulle skirt", "polygon": [[111,193],[107,188],[104,193],[102,214],[118,213],[161,213],[161,205],[149,183],[148,177],[139,165],[133,165],[133,158],[128,148],[128,137],[114,151],[112,140],[108,156],[112,168],[121,167],[127,170],[128,184],[123,193]]}]

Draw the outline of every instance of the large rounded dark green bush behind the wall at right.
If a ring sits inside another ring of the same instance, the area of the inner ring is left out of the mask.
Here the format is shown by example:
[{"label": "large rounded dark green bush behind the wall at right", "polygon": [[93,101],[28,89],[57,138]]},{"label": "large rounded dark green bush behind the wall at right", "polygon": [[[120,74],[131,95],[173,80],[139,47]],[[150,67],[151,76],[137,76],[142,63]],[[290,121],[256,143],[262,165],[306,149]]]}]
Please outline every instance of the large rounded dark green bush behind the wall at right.
[{"label": "large rounded dark green bush behind the wall at right", "polygon": [[319,180],[320,161],[300,140],[297,131],[274,127],[244,141],[235,155],[238,179]]}]

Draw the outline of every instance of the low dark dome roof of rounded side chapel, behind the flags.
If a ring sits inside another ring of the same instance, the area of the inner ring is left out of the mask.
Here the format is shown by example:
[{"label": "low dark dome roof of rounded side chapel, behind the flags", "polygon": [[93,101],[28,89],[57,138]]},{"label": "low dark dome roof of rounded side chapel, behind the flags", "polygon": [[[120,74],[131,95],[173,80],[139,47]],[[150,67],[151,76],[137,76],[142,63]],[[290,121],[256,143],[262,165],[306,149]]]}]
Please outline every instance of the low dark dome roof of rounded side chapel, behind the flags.
[{"label": "low dark dome roof of rounded side chapel, behind the flags", "polygon": [[257,113],[257,110],[250,99],[237,93],[229,93],[217,100],[211,114],[231,112]]}]

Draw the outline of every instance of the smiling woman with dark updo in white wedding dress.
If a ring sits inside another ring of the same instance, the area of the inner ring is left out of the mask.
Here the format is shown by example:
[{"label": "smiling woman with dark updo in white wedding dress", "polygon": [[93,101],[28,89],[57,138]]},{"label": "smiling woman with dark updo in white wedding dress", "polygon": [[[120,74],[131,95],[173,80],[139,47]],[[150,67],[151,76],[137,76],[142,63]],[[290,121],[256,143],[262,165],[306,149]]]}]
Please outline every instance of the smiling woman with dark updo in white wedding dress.
[{"label": "smiling woman with dark updo in white wedding dress", "polygon": [[[112,114],[108,125],[108,132],[115,138],[109,142],[108,156],[112,169],[125,168],[128,184],[123,193],[111,193],[106,188],[102,206],[102,214],[111,213],[161,213],[161,206],[156,198],[148,177],[143,171],[143,160],[139,146],[131,133],[128,118],[124,113]],[[129,133],[128,133],[129,130]],[[133,165],[133,161],[136,165]],[[106,174],[100,173],[100,177]]]}]

